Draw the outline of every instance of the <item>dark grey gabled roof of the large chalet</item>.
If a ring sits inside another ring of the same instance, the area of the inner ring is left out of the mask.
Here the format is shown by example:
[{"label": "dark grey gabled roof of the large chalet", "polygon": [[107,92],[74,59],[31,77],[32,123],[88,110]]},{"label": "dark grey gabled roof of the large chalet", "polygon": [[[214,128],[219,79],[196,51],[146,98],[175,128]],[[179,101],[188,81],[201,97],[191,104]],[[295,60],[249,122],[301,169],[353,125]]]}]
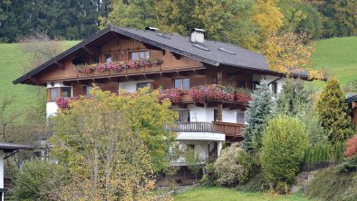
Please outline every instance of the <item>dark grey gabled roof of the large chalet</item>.
[{"label": "dark grey gabled roof of the large chalet", "polygon": [[37,68],[34,68],[34,70],[25,73],[23,76],[13,81],[14,84],[22,83],[27,79],[30,79],[35,74],[42,72],[54,63],[63,60],[66,56],[80,50],[83,46],[92,43],[94,40],[108,33],[125,35],[142,43],[148,43],[161,49],[169,50],[172,53],[178,53],[214,66],[228,65],[250,70],[272,72],[268,70],[268,63],[262,54],[248,51],[231,43],[206,40],[205,43],[198,44],[191,43],[188,37],[178,34],[161,34],[150,30],[108,26],[96,34],[92,34],[67,51],[53,57],[50,61],[44,62]]}]

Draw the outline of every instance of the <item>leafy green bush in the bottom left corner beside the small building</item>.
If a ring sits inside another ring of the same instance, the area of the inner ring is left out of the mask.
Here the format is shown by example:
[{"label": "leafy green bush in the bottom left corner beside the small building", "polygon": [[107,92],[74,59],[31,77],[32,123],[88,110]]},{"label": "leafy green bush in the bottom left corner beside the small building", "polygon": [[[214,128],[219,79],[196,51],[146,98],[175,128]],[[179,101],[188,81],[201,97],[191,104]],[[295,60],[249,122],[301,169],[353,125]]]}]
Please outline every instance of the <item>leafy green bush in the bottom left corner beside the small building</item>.
[{"label": "leafy green bush in the bottom left corner beside the small building", "polygon": [[68,180],[68,171],[60,165],[26,162],[14,181],[14,195],[17,200],[59,200],[60,187]]}]

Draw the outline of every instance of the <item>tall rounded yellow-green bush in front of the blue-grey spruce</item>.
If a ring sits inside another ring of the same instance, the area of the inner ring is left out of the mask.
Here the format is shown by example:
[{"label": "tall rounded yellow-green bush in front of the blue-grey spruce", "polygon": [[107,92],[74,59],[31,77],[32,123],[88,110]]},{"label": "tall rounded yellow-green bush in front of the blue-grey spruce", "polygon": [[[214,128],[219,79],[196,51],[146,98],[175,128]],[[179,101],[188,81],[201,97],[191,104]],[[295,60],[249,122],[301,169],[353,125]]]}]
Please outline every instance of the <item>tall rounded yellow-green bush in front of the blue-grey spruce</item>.
[{"label": "tall rounded yellow-green bush in front of the blue-grey spruce", "polygon": [[270,187],[278,182],[292,184],[304,160],[307,136],[300,120],[278,116],[268,121],[263,134],[261,165]]}]

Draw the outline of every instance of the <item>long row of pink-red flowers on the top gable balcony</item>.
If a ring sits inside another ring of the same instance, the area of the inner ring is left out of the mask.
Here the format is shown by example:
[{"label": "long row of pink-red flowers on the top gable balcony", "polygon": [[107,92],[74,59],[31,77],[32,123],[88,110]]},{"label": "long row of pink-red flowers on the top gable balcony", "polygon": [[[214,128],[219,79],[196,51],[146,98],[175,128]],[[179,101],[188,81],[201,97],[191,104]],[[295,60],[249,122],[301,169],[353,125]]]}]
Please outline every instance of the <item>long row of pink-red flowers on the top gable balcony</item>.
[{"label": "long row of pink-red flowers on the top gable balcony", "polygon": [[140,59],[140,60],[127,60],[119,62],[103,62],[93,64],[78,64],[75,66],[76,72],[106,72],[114,71],[121,72],[125,69],[139,69],[143,67],[157,66],[162,63],[160,59]]}]

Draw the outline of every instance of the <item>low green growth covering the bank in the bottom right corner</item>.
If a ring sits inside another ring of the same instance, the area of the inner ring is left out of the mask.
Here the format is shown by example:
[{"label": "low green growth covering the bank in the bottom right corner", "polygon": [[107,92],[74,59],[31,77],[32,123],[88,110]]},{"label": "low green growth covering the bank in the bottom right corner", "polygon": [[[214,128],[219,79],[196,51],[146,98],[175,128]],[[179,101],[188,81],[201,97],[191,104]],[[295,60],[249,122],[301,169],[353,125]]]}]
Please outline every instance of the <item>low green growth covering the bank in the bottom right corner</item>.
[{"label": "low green growth covering the bank in the bottom right corner", "polygon": [[357,172],[345,173],[339,167],[323,168],[314,175],[306,196],[317,200],[356,200]]}]

